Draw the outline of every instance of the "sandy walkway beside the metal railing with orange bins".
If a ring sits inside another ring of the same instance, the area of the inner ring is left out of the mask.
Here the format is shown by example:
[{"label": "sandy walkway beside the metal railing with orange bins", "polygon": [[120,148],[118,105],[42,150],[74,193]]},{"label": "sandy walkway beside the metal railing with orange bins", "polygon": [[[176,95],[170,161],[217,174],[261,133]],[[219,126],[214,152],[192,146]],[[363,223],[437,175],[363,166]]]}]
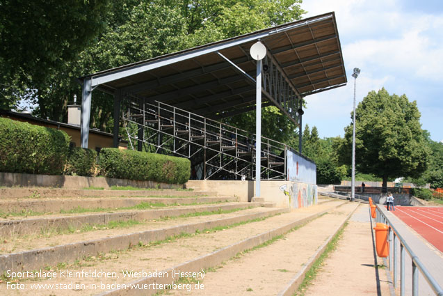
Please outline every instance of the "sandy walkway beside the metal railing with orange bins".
[{"label": "sandy walkway beside the metal railing with orange bins", "polygon": [[[382,262],[382,258],[377,257],[378,265]],[[389,296],[387,267],[376,269],[374,265],[369,211],[364,205],[349,220],[337,249],[323,262],[305,296]]]}]

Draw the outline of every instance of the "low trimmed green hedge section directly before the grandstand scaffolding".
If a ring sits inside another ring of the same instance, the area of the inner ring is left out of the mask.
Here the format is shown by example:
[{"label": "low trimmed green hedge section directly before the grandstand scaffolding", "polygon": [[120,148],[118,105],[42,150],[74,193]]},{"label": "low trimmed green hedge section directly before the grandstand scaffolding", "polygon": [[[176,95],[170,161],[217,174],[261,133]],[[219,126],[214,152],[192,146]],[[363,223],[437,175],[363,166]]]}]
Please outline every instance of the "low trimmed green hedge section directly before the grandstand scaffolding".
[{"label": "low trimmed green hedge section directly before the grandstand scaffolding", "polygon": [[181,157],[103,148],[99,169],[101,175],[110,178],[184,184],[191,173],[191,162]]}]

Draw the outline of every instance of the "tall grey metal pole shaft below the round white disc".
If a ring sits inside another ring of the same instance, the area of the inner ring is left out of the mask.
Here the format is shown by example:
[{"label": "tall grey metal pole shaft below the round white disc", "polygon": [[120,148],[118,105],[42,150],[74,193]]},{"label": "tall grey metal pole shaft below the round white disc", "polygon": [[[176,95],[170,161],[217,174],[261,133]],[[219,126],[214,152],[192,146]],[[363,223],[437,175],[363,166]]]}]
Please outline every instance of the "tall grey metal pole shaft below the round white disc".
[{"label": "tall grey metal pole shaft below the round white disc", "polygon": [[256,115],[255,115],[255,196],[260,197],[260,172],[261,172],[261,60],[257,61],[256,84]]}]

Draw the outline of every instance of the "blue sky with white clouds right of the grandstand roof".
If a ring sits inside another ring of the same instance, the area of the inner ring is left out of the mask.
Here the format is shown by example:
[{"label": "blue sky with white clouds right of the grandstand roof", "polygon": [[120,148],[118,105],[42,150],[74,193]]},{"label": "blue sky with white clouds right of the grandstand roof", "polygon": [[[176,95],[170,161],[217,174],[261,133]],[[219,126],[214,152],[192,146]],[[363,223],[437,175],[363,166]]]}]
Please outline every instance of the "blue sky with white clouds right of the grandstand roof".
[{"label": "blue sky with white clouds right of the grandstand roof", "polygon": [[303,0],[312,17],[335,12],[348,77],[346,86],[305,98],[303,116],[319,136],[344,137],[352,122],[354,78],[357,104],[370,91],[385,87],[417,101],[421,128],[443,141],[443,1]]}]

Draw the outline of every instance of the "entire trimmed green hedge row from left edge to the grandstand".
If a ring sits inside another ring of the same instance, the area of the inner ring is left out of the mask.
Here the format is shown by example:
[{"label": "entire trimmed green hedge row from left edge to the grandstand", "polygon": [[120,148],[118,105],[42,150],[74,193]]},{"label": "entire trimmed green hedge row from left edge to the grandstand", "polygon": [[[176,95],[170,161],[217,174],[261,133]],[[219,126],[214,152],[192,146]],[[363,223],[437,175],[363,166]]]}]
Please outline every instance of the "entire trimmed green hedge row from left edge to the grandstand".
[{"label": "entire trimmed green hedge row from left edge to the grandstand", "polygon": [[[69,142],[70,137],[61,130],[0,118],[0,171],[94,175],[97,152],[69,148]],[[182,157],[103,148],[99,171],[111,178],[184,184],[191,173],[191,162]]]}]

